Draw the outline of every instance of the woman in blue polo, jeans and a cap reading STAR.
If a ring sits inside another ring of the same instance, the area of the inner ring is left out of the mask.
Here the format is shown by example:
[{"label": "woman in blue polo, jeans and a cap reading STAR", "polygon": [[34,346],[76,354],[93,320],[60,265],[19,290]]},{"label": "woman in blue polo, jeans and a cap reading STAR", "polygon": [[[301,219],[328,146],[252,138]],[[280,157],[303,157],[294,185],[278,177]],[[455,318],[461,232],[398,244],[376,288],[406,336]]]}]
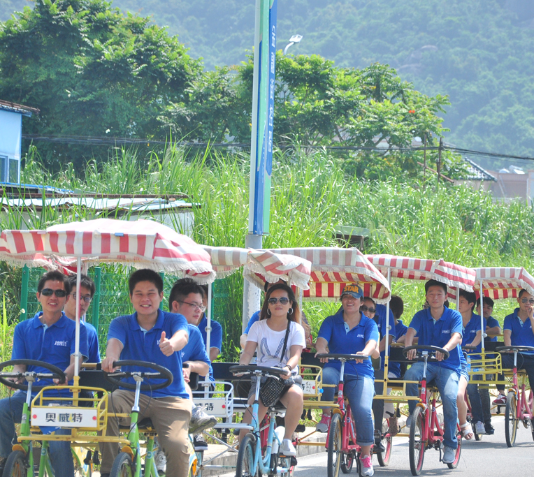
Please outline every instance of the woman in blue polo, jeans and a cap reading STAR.
[{"label": "woman in blue polo, jeans and a cap reading STAR", "polygon": [[[360,312],[363,290],[358,284],[349,284],[341,295],[342,310],[326,318],[319,330],[315,348],[319,353],[361,353],[371,355],[377,349],[378,328],[375,321]],[[337,384],[341,363],[329,360],[323,368],[324,384]],[[374,372],[370,358],[345,363],[345,396],[348,397],[354,423],[356,443],[361,446],[361,474],[372,476],[371,446],[373,446]],[[323,399],[333,401],[334,388],[324,388]],[[330,425],[330,411],[323,410],[317,430],[326,432]]]}]

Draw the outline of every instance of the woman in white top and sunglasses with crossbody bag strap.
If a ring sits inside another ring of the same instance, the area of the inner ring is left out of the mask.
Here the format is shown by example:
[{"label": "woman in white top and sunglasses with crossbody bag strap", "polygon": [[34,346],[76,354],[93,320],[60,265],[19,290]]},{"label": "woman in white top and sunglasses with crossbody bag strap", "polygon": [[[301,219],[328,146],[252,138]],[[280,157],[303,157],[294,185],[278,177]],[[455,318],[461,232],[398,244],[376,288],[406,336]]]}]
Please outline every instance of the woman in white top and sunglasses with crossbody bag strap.
[{"label": "woman in white top and sunglasses with crossbody bag strap", "polygon": [[[287,321],[289,323],[289,335],[287,337],[287,346],[284,356],[282,348],[287,330]],[[285,284],[277,284],[269,288],[265,295],[264,306],[261,307],[259,321],[252,325],[247,336],[245,351],[239,360],[240,365],[248,365],[254,351],[257,351],[257,365],[259,366],[276,366],[287,370],[283,379],[289,376],[298,375],[298,360],[301,359],[301,353],[306,346],[304,337],[304,328],[301,326],[301,311],[298,309],[298,303],[291,287]],[[280,361],[280,358],[282,360]],[[254,394],[257,383],[252,382],[249,393],[249,404],[254,402]],[[303,411],[303,392],[301,386],[294,384],[287,392],[280,397],[280,402],[286,407],[285,416],[285,435],[280,444],[280,453],[282,455],[296,455],[295,447],[291,443],[291,434],[295,432],[298,421],[301,419]],[[258,418],[263,420],[267,408],[259,402]],[[245,412],[243,423],[250,423],[252,414]],[[239,440],[247,434],[247,430],[242,430]]]}]

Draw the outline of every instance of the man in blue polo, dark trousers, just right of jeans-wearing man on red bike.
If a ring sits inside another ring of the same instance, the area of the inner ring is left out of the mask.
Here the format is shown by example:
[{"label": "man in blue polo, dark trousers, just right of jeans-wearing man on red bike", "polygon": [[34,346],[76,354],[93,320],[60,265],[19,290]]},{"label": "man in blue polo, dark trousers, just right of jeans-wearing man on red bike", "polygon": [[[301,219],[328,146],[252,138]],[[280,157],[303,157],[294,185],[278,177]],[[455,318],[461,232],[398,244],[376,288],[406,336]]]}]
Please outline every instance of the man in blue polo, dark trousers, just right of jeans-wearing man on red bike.
[{"label": "man in blue polo, dark trousers, just right of jeans-wearing man on red bike", "polygon": [[[486,330],[486,320],[480,315],[473,312],[477,302],[477,295],[475,293],[460,290],[458,300],[458,311],[462,316],[462,344],[461,346],[474,346],[474,349],[466,349],[466,353],[471,360],[479,360],[479,353],[482,351],[482,328]],[[472,369],[475,371],[475,369]],[[475,381],[482,379],[481,374],[475,374],[471,377]],[[489,409],[484,412],[482,406],[482,399],[478,389],[477,383],[469,383],[467,387],[469,402],[471,403],[472,422],[475,423],[475,430],[477,434],[486,434],[486,427],[491,426],[491,412]]]}]

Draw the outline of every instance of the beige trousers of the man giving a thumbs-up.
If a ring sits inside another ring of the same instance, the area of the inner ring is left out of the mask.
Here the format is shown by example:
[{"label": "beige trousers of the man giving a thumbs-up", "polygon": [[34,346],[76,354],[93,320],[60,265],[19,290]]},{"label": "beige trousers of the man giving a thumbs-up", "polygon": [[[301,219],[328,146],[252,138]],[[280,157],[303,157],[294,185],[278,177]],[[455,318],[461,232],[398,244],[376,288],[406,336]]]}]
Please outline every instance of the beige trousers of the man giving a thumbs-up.
[{"label": "beige trousers of the man giving a thumbs-up", "polygon": [[[133,391],[117,390],[108,399],[108,428],[106,435],[118,436],[121,426],[130,424],[129,418],[115,418],[115,413],[131,413]],[[139,418],[150,418],[157,432],[159,445],[167,458],[168,477],[187,477],[189,470],[189,448],[187,434],[191,419],[192,402],[181,397],[151,398],[139,397]],[[102,465],[100,472],[110,472],[113,460],[119,453],[117,443],[104,443],[102,446]]]}]

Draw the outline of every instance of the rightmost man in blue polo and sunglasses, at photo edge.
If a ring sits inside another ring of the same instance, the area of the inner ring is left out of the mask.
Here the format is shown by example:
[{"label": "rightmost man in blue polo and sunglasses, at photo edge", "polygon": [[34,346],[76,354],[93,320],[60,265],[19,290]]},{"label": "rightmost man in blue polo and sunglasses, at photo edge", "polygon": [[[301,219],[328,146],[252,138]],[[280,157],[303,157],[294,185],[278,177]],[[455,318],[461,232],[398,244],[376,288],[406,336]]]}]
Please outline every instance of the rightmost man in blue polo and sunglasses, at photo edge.
[{"label": "rightmost man in blue polo and sunglasses, at photo edge", "polygon": [[[534,295],[519,292],[519,308],[505,317],[503,334],[505,346],[534,346]],[[513,353],[503,353],[503,368],[514,367]],[[534,383],[534,351],[517,353],[517,369],[524,369],[528,381]]]}]

